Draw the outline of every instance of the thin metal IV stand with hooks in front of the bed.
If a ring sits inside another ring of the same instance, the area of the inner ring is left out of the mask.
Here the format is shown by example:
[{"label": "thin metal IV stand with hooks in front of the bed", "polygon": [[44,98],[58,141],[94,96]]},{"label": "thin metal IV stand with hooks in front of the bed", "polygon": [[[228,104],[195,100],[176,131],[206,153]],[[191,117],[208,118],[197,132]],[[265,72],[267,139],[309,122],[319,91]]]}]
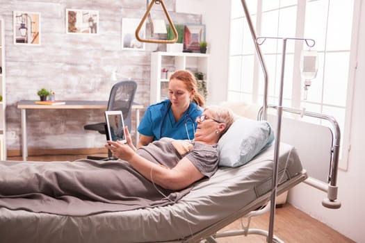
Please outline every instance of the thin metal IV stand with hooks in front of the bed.
[{"label": "thin metal IV stand with hooks in front of the bed", "polygon": [[[273,182],[272,182],[272,194],[270,199],[270,223],[268,228],[268,243],[273,242],[274,236],[274,219],[275,219],[275,204],[277,194],[277,172],[278,172],[278,155],[280,145],[280,133],[282,129],[282,99],[283,99],[283,87],[284,87],[284,70],[285,70],[285,56],[286,56],[286,41],[287,40],[304,40],[308,47],[314,47],[316,42],[313,39],[295,38],[295,37],[257,37],[256,43],[258,45],[263,44],[266,39],[279,39],[283,40],[282,47],[282,74],[280,77],[280,90],[279,90],[279,101],[277,106],[277,128],[275,135],[275,151],[274,151],[274,165],[273,165]],[[309,44],[309,42],[312,42]]]}]

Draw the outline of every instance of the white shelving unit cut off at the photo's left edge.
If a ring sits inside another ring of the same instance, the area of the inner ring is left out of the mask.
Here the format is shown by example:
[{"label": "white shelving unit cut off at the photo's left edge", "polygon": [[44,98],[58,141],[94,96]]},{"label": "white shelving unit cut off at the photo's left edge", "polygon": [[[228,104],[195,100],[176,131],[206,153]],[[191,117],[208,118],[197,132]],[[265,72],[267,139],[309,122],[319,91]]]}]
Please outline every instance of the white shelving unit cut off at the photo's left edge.
[{"label": "white shelving unit cut off at the photo's left edge", "polygon": [[0,160],[6,159],[6,90],[5,90],[5,49],[4,49],[4,37],[3,37],[3,19],[0,19]]}]

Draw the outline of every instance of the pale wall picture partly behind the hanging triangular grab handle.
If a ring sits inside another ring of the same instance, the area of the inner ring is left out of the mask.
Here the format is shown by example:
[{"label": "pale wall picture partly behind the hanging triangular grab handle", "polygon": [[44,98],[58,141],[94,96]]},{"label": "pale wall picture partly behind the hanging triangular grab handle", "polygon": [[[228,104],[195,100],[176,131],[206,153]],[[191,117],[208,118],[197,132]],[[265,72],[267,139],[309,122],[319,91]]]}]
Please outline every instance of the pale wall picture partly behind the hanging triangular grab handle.
[{"label": "pale wall picture partly behind the hanging triangular grab handle", "polygon": [[[122,49],[144,50],[145,42],[136,39],[136,28],[140,24],[140,19],[122,19]],[[145,38],[145,24],[140,28],[139,36]]]}]

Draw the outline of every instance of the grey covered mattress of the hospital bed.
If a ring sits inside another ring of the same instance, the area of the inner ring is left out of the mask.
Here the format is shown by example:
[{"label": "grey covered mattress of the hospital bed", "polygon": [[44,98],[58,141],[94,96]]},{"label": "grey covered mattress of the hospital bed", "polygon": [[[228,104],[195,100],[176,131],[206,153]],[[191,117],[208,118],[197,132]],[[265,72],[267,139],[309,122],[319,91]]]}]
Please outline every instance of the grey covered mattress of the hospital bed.
[{"label": "grey covered mattress of the hospital bed", "polygon": [[[179,242],[229,219],[270,194],[274,146],[242,167],[220,167],[170,206],[85,217],[0,208],[1,242]],[[280,144],[278,181],[303,169],[293,146]],[[248,211],[249,212],[249,211]],[[234,219],[232,219],[233,221]]]}]

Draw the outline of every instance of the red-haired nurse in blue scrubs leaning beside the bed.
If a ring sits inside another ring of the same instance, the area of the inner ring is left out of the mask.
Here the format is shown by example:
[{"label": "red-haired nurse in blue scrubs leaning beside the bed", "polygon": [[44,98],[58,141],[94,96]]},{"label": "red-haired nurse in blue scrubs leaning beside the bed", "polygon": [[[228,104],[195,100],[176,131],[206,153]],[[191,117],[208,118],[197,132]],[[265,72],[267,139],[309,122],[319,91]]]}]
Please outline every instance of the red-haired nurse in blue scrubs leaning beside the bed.
[{"label": "red-haired nurse in blue scrubs leaning beside the bed", "polygon": [[202,115],[204,98],[197,92],[195,76],[186,70],[172,74],[168,84],[168,99],[149,106],[143,115],[138,132],[137,147],[161,137],[193,140],[197,128],[196,117]]}]

